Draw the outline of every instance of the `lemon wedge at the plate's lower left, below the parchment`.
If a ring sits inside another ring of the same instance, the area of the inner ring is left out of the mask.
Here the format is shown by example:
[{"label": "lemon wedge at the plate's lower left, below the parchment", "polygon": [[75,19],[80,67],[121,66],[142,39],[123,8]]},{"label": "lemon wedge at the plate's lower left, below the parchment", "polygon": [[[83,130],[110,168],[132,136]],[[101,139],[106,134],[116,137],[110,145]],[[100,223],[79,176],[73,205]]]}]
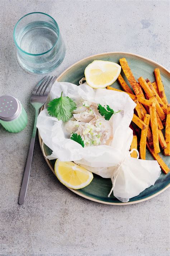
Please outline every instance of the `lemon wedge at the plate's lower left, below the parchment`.
[{"label": "lemon wedge at the plate's lower left, below the parchment", "polygon": [[84,188],[93,180],[92,172],[74,162],[61,162],[57,159],[54,170],[60,182],[68,188]]}]

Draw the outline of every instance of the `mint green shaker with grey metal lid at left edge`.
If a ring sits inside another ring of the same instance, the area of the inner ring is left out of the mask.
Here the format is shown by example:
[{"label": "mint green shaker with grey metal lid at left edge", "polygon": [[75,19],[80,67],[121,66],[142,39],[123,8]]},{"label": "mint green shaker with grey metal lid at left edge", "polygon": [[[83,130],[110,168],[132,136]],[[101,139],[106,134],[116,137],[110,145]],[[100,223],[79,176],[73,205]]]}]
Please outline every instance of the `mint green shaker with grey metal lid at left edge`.
[{"label": "mint green shaker with grey metal lid at left edge", "polygon": [[18,133],[27,122],[27,113],[18,99],[11,95],[0,96],[0,123],[7,131]]}]

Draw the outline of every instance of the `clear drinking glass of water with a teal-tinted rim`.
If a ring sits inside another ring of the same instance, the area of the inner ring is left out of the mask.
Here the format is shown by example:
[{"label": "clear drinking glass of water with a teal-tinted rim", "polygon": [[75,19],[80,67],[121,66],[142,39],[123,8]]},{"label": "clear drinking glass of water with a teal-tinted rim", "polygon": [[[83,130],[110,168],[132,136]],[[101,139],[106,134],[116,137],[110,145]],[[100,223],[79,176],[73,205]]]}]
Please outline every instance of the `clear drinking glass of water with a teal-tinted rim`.
[{"label": "clear drinking glass of water with a teal-tinted rim", "polygon": [[48,73],[65,57],[58,24],[46,13],[24,15],[16,23],[13,36],[19,64],[27,71]]}]

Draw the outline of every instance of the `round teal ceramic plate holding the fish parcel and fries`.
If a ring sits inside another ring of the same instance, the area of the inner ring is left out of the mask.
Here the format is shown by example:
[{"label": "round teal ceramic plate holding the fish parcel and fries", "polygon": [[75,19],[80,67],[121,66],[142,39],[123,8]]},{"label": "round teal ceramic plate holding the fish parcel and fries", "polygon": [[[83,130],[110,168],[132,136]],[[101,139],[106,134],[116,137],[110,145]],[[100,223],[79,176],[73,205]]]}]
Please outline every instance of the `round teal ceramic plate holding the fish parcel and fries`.
[{"label": "round teal ceramic plate holding the fish parcel and fries", "polygon": [[[161,77],[163,84],[165,86],[166,96],[170,102],[170,90],[169,90],[169,71],[159,65],[158,63],[144,58],[139,55],[131,54],[131,53],[123,53],[123,52],[112,52],[112,53],[103,53],[98,55],[93,55],[87,57],[85,59],[80,60],[79,62],[73,64],[71,67],[67,68],[58,78],[58,82],[71,82],[72,84],[79,85],[79,80],[84,77],[84,69],[91,63],[93,60],[109,60],[116,63],[119,63],[119,59],[125,57],[127,62],[133,72],[134,77],[137,79],[140,76],[143,76],[145,79],[148,78],[150,81],[154,81],[154,69],[156,67],[160,68]],[[126,80],[123,71],[121,72],[122,76]],[[127,82],[127,80],[126,80]],[[128,83],[128,82],[127,82]],[[114,82],[113,86],[117,89],[121,89],[118,82]],[[50,155],[52,153],[51,149],[48,148],[43,142],[41,137],[39,136],[40,145],[42,148],[42,152],[44,157]],[[161,157],[164,159],[166,164],[170,165],[170,157],[165,157],[162,153],[160,154]],[[146,159],[153,160],[152,156],[149,152],[147,152]],[[54,165],[55,160],[49,161],[47,163],[50,169],[54,172]],[[169,174],[165,175],[161,172],[159,179],[156,181],[154,186],[151,186],[145,189],[142,193],[138,196],[133,197],[127,203],[120,202],[117,198],[115,198],[112,194],[110,198],[108,198],[108,194],[110,192],[110,188],[112,187],[112,182],[110,179],[101,178],[98,175],[94,174],[93,181],[85,188],[74,190],[70,189],[72,192],[78,194],[79,196],[85,197],[92,201],[106,203],[110,205],[128,205],[132,203],[139,203],[145,200],[148,200],[152,197],[157,196],[165,189],[169,187],[170,181],[170,172]]]}]

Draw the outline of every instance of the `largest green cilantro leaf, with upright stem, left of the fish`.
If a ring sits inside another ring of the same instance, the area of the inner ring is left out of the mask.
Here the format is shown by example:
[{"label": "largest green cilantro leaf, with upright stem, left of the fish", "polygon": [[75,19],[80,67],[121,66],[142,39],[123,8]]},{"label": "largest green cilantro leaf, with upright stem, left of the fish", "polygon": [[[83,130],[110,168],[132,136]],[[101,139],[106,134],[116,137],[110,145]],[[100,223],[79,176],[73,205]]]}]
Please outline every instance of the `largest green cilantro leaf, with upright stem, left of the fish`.
[{"label": "largest green cilantro leaf, with upright stem, left of the fish", "polygon": [[[63,93],[63,92],[62,92]],[[72,111],[77,108],[76,103],[71,98],[61,97],[53,99],[48,103],[47,111],[50,116],[57,117],[58,120],[67,122],[72,117]]]}]

